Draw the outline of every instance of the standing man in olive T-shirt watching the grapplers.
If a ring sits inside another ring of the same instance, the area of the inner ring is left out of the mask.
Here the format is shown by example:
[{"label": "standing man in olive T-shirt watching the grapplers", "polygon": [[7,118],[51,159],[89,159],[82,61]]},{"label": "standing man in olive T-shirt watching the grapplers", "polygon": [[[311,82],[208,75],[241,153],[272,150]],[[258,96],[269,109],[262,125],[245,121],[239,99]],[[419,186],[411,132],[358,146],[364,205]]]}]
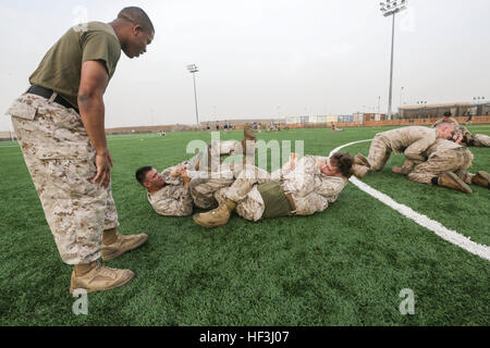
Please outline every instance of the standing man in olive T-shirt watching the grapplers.
[{"label": "standing man in olive T-shirt watching the grapplers", "polygon": [[70,28],[7,112],[61,259],[74,265],[71,293],[128,283],[132,271],[102,266],[100,258],[113,260],[148,238],[118,232],[103,94],[121,50],[130,59],[139,57],[154,35],[148,15],[134,7],[123,9],[111,23]]}]

